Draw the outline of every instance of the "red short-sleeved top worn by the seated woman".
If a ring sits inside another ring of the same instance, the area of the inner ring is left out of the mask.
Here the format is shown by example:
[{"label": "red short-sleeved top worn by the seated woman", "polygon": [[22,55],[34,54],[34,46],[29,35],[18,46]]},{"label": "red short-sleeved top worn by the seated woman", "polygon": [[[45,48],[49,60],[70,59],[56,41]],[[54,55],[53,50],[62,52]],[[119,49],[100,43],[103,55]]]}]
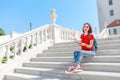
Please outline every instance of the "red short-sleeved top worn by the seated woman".
[{"label": "red short-sleeved top worn by the seated woman", "polygon": [[[90,39],[88,38],[88,36]],[[88,45],[90,44],[90,40],[94,40],[93,34],[81,35],[80,38],[82,43],[86,43]],[[92,46],[92,48],[87,48],[85,46],[81,46],[81,50],[93,51],[94,47]]]}]

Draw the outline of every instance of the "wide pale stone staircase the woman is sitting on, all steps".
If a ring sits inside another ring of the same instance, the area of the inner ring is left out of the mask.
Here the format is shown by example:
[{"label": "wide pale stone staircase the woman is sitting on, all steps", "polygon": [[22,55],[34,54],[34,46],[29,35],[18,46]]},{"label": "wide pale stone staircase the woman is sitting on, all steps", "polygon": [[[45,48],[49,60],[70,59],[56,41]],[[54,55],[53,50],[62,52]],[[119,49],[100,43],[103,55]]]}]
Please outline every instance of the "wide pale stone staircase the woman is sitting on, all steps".
[{"label": "wide pale stone staircase the woman is sitting on, all steps", "polygon": [[84,58],[82,72],[66,74],[73,62],[74,42],[57,43],[37,54],[3,80],[120,80],[120,38],[98,39],[95,57]]}]

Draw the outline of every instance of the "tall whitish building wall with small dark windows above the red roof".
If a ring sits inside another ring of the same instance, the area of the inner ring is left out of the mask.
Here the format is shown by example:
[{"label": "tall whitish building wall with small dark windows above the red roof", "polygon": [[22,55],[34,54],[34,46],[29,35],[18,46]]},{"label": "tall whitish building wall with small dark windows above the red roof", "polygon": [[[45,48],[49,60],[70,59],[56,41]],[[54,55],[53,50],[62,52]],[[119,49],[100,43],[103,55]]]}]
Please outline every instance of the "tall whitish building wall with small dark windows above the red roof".
[{"label": "tall whitish building wall with small dark windows above the red roof", "polygon": [[120,0],[97,0],[100,32],[114,20],[120,19]]}]

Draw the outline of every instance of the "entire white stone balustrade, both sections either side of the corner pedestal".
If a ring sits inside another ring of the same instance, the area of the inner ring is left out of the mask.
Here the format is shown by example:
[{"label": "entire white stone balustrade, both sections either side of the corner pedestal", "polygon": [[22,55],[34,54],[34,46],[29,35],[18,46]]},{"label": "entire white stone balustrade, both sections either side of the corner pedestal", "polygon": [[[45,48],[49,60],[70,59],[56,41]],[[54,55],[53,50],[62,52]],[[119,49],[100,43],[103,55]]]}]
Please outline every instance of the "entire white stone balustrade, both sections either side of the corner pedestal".
[{"label": "entire white stone balustrade, both sections either side of the corner pedestal", "polygon": [[10,58],[21,55],[23,52],[42,43],[70,42],[73,36],[78,37],[80,32],[63,28],[56,24],[45,25],[0,44],[0,61],[6,63]]}]

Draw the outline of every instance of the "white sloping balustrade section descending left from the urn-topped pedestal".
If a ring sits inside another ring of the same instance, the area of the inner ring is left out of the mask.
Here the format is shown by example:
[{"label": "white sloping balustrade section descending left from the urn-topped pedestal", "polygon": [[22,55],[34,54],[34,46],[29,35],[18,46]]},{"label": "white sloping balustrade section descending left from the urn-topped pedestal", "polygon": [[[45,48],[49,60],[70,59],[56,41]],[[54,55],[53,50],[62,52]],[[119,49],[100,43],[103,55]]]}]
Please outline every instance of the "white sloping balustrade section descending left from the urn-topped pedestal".
[{"label": "white sloping balustrade section descending left from the urn-topped pedestal", "polygon": [[2,63],[5,63],[9,57],[13,58],[15,55],[21,55],[30,48],[47,41],[47,28],[47,25],[42,26],[0,44],[0,60]]}]

